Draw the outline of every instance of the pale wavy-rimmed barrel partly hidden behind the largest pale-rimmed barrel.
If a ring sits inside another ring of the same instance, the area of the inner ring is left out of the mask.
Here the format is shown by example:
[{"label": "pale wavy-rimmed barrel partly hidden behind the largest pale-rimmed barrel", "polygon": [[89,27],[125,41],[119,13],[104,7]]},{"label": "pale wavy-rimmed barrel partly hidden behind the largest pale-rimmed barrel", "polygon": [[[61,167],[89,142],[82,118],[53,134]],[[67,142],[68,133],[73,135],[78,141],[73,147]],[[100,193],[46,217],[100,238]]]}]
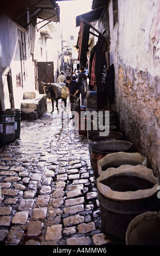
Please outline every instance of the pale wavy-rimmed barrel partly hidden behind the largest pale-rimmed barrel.
[{"label": "pale wavy-rimmed barrel partly hidden behind the largest pale-rimmed barrel", "polygon": [[141,164],[147,167],[147,159],[146,157],[141,156],[139,153],[118,152],[108,154],[101,160],[97,161],[98,173],[101,175],[104,170],[110,167],[118,168],[124,164],[131,164],[131,166],[137,166],[138,164]]}]

